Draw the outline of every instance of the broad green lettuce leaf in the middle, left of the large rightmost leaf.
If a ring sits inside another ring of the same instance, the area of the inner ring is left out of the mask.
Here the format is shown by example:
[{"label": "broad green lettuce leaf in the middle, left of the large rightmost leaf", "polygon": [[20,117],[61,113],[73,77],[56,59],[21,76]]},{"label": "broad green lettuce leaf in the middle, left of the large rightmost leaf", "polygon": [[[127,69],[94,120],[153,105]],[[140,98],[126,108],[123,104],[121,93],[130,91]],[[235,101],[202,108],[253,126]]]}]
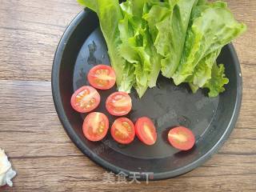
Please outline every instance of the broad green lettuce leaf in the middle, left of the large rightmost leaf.
[{"label": "broad green lettuce leaf in the middle, left of the large rightmost leaf", "polygon": [[[186,40],[186,31],[192,8],[197,0],[173,0],[166,4],[153,6],[144,16],[149,22],[151,33],[155,37],[154,46],[161,60],[162,74],[172,77],[182,57]],[[156,15],[159,15],[156,17]]]}]

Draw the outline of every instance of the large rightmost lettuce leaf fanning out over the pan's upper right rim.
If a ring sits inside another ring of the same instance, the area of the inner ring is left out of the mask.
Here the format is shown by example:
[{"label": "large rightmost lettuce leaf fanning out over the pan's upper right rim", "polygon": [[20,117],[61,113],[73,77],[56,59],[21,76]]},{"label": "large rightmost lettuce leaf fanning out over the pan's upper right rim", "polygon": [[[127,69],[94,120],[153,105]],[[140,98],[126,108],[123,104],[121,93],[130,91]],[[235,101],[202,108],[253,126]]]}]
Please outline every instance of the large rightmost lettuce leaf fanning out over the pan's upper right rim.
[{"label": "large rightmost lettuce leaf fanning out over the pan's upper right rim", "polygon": [[187,82],[186,78],[194,74],[201,59],[221,49],[246,30],[244,24],[234,19],[225,2],[200,2],[191,15],[182,59],[173,76],[176,85]]}]

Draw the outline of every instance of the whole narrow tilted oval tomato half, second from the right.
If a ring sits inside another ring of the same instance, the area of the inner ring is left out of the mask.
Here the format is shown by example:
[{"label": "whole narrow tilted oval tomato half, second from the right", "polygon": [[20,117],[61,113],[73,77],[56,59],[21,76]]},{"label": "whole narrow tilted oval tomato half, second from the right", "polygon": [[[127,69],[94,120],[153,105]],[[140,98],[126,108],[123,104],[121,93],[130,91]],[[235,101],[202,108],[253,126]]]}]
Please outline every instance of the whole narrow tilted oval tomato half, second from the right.
[{"label": "whole narrow tilted oval tomato half, second from the right", "polygon": [[157,132],[150,118],[138,118],[135,124],[135,132],[139,140],[146,145],[154,145],[157,141]]}]

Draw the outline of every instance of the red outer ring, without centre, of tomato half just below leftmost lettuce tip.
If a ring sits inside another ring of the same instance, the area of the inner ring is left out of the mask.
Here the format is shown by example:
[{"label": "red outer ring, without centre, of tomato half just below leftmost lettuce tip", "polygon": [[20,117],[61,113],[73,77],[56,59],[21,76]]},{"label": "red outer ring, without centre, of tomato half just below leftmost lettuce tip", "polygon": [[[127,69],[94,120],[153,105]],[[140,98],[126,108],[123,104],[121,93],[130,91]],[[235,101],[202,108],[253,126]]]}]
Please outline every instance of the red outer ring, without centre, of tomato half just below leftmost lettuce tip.
[{"label": "red outer ring, without centre, of tomato half just below leftmost lettuce tip", "polygon": [[[125,112],[123,113],[116,113],[114,110],[111,109],[111,99],[112,97],[114,97],[115,94],[122,94],[123,96],[126,96],[128,99],[129,99],[129,102],[130,102],[130,105],[127,106],[127,109]],[[110,94],[110,96],[108,98],[106,98],[106,110],[114,115],[114,116],[123,116],[123,115],[126,115],[126,114],[129,114],[130,113],[130,110],[132,108],[132,102],[131,102],[131,98],[130,98],[130,95],[127,94],[126,92],[122,92],[122,91],[118,91],[118,92],[114,92],[113,94]]]}]

